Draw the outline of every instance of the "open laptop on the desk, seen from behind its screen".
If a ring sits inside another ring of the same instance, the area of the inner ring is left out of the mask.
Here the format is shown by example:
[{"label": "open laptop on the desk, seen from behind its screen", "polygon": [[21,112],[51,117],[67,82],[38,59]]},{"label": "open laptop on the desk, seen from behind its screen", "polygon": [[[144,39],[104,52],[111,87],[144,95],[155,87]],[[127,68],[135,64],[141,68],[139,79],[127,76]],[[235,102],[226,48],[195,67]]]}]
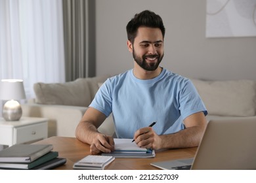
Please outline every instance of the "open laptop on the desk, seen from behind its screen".
[{"label": "open laptop on the desk, seen from behind its screen", "polygon": [[160,169],[256,169],[256,118],[210,120],[196,156],[154,162]]}]

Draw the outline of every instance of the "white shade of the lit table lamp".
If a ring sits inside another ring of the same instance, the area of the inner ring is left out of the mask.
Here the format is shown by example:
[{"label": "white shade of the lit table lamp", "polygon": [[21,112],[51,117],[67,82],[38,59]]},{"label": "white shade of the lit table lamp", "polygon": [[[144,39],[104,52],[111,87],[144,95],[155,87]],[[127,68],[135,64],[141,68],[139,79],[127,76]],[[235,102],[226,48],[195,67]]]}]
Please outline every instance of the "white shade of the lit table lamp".
[{"label": "white shade of the lit table lamp", "polygon": [[26,99],[23,80],[1,80],[0,82],[0,99],[1,100],[20,100]]}]

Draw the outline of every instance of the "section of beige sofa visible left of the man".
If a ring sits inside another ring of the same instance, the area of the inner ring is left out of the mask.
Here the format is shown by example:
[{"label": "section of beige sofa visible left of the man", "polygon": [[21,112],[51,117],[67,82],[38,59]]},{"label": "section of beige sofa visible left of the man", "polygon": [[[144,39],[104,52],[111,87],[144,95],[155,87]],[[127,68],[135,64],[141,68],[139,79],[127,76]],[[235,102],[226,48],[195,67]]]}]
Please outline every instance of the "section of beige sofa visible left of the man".
[{"label": "section of beige sofa visible left of the man", "polygon": [[[75,128],[93,100],[99,86],[110,75],[78,78],[66,83],[34,84],[35,99],[22,105],[22,116],[48,118],[48,137],[75,137]],[[114,134],[110,115],[98,131]]]}]

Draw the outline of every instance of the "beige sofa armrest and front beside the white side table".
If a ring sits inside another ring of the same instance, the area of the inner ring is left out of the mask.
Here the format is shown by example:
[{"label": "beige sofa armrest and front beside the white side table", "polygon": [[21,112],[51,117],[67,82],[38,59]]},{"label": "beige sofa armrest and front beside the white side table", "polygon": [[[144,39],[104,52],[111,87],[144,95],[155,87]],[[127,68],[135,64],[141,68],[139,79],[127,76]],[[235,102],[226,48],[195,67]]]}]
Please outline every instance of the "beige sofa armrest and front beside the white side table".
[{"label": "beige sofa armrest and front beside the white side table", "polygon": [[87,107],[23,104],[22,116],[48,119],[48,137],[75,137],[75,129]]}]

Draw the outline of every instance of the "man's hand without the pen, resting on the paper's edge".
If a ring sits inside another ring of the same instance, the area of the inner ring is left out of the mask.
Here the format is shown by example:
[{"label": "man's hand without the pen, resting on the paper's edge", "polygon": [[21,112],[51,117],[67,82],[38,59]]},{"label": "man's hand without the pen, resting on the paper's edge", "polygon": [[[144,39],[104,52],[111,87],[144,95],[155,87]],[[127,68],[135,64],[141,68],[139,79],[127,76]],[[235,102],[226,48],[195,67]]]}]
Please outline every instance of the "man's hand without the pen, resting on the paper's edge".
[{"label": "man's hand without the pen, resting on the paper's edge", "polygon": [[114,151],[114,139],[113,137],[106,136],[102,133],[98,133],[91,142],[90,152],[91,154],[100,154],[102,152],[110,153]]}]

